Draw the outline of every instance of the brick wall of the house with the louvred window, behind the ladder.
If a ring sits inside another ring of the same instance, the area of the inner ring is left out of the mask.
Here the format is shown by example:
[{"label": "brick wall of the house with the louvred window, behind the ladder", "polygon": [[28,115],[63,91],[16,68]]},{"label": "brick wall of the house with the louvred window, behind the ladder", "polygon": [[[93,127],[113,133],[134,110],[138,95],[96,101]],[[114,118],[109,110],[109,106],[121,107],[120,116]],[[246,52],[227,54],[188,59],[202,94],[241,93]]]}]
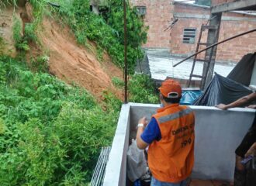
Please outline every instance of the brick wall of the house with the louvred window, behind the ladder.
[{"label": "brick wall of the house with the louvred window, behind the ladder", "polygon": [[[196,43],[198,41],[200,26],[209,19],[209,9],[191,7],[189,5],[175,5],[174,15],[178,22],[171,29],[171,53],[180,56],[188,56],[195,53]],[[194,44],[182,43],[184,28],[197,28]],[[250,29],[256,28],[256,16],[243,15],[233,12],[223,13],[220,25],[219,41],[225,40],[239,33],[244,33]],[[206,43],[207,31],[202,34],[202,42]],[[238,62],[246,53],[256,51],[256,32],[237,37],[227,43],[222,43],[217,48],[216,60],[225,62]],[[200,49],[205,48],[201,46]],[[201,53],[199,57],[204,57]]]}]

